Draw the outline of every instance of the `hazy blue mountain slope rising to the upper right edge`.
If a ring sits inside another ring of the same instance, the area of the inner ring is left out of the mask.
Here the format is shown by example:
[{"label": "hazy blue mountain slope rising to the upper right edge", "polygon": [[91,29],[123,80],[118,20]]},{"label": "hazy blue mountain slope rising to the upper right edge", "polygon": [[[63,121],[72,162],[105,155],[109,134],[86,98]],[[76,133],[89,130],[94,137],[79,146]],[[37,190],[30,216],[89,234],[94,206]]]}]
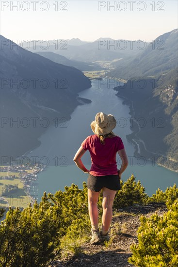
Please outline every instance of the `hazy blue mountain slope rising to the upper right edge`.
[{"label": "hazy blue mountain slope rising to the upper right edge", "polygon": [[115,63],[108,76],[121,79],[156,76],[178,66],[178,29],[164,33],[138,55]]}]

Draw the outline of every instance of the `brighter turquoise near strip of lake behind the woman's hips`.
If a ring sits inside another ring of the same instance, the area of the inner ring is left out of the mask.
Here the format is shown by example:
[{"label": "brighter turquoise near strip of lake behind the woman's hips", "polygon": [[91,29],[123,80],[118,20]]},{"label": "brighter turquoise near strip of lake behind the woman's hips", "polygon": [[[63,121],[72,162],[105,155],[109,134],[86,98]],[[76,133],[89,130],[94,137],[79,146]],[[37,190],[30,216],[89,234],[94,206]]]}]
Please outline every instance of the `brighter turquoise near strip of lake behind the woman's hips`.
[{"label": "brighter turquoise near strip of lake behind the woman's hips", "polygon": [[[85,165],[85,167],[89,168],[90,165]],[[136,165],[129,166],[122,174],[122,180],[126,181],[132,173],[135,176],[135,181],[140,180],[141,184],[144,185],[146,193],[149,196],[155,194],[158,187],[165,191],[167,186],[172,186],[175,183],[178,184],[177,173],[163,167],[154,167],[151,163],[144,167]],[[88,174],[82,172],[75,165],[67,167],[46,167],[39,174],[37,198],[40,199],[44,191],[47,193],[55,193],[57,190],[64,191],[64,187],[70,186],[72,183],[77,184],[82,189],[83,181],[87,182],[87,178]]]}]

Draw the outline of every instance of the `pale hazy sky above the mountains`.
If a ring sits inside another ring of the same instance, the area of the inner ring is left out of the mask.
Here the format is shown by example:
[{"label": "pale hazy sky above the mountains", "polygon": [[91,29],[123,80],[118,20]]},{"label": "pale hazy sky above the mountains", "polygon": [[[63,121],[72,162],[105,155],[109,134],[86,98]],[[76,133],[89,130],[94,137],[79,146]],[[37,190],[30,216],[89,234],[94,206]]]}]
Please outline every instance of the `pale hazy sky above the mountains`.
[{"label": "pale hazy sky above the mountains", "polygon": [[14,42],[100,37],[149,42],[178,28],[177,10],[177,0],[0,0],[0,33]]}]

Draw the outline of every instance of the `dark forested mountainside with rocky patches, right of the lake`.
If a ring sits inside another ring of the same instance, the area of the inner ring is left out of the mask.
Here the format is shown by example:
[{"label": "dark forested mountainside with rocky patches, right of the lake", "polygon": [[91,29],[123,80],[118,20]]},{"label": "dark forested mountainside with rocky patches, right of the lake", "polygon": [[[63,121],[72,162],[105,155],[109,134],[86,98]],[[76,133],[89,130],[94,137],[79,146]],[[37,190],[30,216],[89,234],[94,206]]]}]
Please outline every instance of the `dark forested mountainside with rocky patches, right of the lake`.
[{"label": "dark forested mountainside with rocky patches, right of the lake", "polygon": [[[123,98],[130,107],[132,133],[126,137],[135,148],[134,155],[154,160],[154,164],[173,171],[178,171],[177,73],[178,68],[175,68],[154,79],[130,79],[124,89],[123,86],[114,88],[116,96]],[[138,84],[143,80],[146,86],[141,88]],[[139,125],[140,118],[144,120],[144,127]]]}]

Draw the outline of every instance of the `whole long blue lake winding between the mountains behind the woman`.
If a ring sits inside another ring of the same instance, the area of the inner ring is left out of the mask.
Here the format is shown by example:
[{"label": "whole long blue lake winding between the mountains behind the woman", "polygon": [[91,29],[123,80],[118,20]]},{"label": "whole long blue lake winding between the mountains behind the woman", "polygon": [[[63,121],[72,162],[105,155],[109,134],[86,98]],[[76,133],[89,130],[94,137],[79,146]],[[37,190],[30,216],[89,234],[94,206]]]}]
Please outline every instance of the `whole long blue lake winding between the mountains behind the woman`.
[{"label": "whole long blue lake winding between the mountains behind the woman", "polygon": [[[90,123],[95,119],[97,112],[113,114],[117,120],[117,126],[113,132],[119,135],[124,143],[129,158],[129,166],[122,174],[126,181],[133,173],[136,181],[140,180],[146,188],[146,193],[151,196],[156,193],[158,187],[165,190],[167,186],[178,184],[178,173],[164,167],[157,166],[154,162],[146,159],[134,158],[134,148],[127,141],[126,134],[129,129],[129,107],[122,104],[122,100],[115,96],[112,80],[104,80],[105,84],[99,81],[92,81],[92,87],[82,91],[79,96],[92,100],[92,103],[77,106],[71,114],[71,120],[59,127],[50,127],[40,137],[41,146],[26,156],[36,156],[47,167],[38,174],[38,185],[32,191],[38,200],[43,192],[55,193],[57,190],[64,190],[65,185],[72,183],[82,188],[83,181],[87,181],[88,174],[79,169],[73,162],[73,157],[81,142],[93,134]],[[123,119],[124,118],[124,119]],[[123,127],[124,122],[124,127]],[[118,167],[120,166],[119,155],[116,157]],[[89,151],[86,151],[81,158],[83,164],[90,168],[91,159]]]}]

